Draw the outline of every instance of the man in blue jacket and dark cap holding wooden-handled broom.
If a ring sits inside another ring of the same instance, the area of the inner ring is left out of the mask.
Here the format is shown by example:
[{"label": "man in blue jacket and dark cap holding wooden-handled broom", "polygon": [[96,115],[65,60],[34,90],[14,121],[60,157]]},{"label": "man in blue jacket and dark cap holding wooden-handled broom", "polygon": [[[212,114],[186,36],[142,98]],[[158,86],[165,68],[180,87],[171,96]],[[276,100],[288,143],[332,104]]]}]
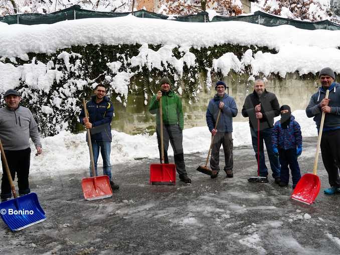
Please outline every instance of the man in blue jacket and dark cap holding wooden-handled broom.
[{"label": "man in blue jacket and dark cap holding wooden-handled broom", "polygon": [[[233,175],[233,117],[237,115],[237,106],[234,98],[225,93],[226,84],[223,81],[218,81],[215,85],[217,94],[212,100],[210,100],[206,119],[209,131],[214,137],[214,142],[211,149],[210,167],[211,170],[217,171],[215,175],[211,175],[211,178],[216,178],[219,171],[220,161],[220,148],[223,146],[225,167],[224,171],[227,173],[227,177],[232,178]],[[220,119],[215,129],[217,116],[221,111]]]}]

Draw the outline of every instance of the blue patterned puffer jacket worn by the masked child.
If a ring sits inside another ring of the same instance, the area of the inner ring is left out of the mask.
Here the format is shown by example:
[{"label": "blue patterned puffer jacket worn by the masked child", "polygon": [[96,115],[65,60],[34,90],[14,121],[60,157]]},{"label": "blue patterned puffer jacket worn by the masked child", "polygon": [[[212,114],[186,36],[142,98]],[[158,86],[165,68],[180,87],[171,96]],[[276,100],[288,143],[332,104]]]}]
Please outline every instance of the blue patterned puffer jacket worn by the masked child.
[{"label": "blue patterned puffer jacket worn by the masked child", "polygon": [[302,147],[302,135],[299,123],[290,115],[289,127],[283,129],[280,121],[276,121],[272,134],[273,146],[281,149],[296,149]]}]

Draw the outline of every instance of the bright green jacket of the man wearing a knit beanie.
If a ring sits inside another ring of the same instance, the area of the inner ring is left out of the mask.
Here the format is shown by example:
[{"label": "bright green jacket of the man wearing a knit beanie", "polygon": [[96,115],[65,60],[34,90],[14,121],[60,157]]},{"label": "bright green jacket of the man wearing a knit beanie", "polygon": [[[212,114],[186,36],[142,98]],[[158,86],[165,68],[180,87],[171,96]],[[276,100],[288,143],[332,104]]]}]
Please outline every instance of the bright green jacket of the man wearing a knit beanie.
[{"label": "bright green jacket of the man wearing a knit beanie", "polygon": [[[173,91],[162,92],[162,116],[163,124],[178,124],[183,130],[184,118],[182,110],[182,102],[178,95]],[[149,112],[151,114],[156,113],[156,122],[159,125],[159,102],[156,100],[156,95],[153,95],[149,105]]]}]

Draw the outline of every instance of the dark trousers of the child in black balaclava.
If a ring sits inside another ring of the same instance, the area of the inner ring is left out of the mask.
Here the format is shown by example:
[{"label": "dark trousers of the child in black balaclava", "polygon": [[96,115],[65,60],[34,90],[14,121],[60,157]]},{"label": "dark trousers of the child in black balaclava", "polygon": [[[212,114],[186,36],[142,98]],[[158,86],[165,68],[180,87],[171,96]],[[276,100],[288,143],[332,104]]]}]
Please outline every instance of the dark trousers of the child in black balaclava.
[{"label": "dark trousers of the child in black balaclava", "polygon": [[289,182],[290,168],[292,182],[293,185],[295,185],[301,178],[300,167],[299,163],[297,162],[296,149],[279,149],[279,159],[281,164],[281,182]]}]

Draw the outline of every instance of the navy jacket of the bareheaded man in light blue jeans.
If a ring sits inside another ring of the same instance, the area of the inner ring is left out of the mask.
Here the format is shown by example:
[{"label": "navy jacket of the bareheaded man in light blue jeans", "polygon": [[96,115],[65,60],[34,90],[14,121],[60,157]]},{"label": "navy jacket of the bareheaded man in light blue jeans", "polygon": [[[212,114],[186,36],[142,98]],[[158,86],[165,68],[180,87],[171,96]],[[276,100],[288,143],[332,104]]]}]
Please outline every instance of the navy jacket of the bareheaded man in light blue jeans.
[{"label": "navy jacket of the bareheaded man in light blue jeans", "polygon": [[[111,121],[113,117],[112,102],[109,101],[107,97],[104,97],[103,101],[97,104],[96,96],[92,96],[91,100],[86,102],[86,110],[89,115],[89,121],[90,123],[92,123],[92,128],[90,129],[91,141],[111,142]],[[84,124],[83,118],[85,118],[84,109],[81,110],[79,115],[79,120],[81,124]]]}]

